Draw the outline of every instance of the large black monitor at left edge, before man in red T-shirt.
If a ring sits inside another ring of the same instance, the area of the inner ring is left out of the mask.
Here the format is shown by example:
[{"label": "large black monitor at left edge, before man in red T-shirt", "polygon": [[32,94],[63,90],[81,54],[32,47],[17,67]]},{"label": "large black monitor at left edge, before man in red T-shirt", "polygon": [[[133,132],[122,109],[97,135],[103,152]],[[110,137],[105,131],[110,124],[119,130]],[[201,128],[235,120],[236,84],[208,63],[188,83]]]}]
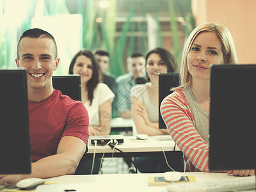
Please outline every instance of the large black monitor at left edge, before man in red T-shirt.
[{"label": "large black monitor at left edge, before man in red T-shirt", "polygon": [[0,69],[0,175],[31,172],[25,69]]}]

